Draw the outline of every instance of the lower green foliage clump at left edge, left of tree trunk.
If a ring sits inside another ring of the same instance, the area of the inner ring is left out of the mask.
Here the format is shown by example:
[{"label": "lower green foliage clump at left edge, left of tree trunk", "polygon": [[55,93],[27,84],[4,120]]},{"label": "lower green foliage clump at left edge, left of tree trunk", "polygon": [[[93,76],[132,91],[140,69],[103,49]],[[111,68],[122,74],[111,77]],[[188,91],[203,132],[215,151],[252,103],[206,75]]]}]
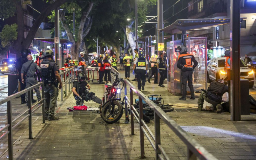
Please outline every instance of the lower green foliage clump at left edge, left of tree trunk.
[{"label": "lower green foliage clump at left edge, left of tree trunk", "polygon": [[18,25],[16,23],[12,25],[5,25],[2,32],[0,33],[1,44],[3,47],[8,47],[17,40],[18,32],[17,32]]}]

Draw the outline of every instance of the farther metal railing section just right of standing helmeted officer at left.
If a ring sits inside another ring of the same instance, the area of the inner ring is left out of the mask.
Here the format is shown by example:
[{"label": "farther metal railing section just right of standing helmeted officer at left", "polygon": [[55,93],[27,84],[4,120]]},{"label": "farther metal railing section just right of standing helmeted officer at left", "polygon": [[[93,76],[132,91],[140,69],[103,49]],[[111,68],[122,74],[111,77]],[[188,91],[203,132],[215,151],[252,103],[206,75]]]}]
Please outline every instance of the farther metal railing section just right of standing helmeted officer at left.
[{"label": "farther metal railing section just right of standing helmeted officer at left", "polygon": [[[68,73],[70,73],[70,75],[67,76]],[[63,75],[65,80],[64,82],[63,82]],[[67,96],[67,83],[68,83],[68,92],[70,92],[70,84],[71,84],[71,89],[73,87],[73,80],[75,79],[74,67],[61,72],[60,79],[62,82],[62,88],[60,89],[60,96],[61,96],[61,101],[63,101],[63,87],[65,87],[65,96]]]}]

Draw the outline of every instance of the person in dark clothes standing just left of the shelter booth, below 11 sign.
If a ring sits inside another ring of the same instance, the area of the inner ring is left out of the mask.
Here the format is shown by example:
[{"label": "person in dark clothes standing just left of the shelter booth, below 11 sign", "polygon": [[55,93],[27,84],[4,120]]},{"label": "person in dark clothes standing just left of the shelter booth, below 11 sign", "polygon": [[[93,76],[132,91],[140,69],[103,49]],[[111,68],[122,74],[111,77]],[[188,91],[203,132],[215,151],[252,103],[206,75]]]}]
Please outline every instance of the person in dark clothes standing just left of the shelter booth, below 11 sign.
[{"label": "person in dark clothes standing just left of the shelter booth, below 11 sign", "polygon": [[161,53],[160,58],[157,59],[157,68],[158,72],[160,74],[160,81],[158,86],[164,87],[164,72],[166,71],[167,64],[166,64],[166,59],[164,58],[164,53]]}]

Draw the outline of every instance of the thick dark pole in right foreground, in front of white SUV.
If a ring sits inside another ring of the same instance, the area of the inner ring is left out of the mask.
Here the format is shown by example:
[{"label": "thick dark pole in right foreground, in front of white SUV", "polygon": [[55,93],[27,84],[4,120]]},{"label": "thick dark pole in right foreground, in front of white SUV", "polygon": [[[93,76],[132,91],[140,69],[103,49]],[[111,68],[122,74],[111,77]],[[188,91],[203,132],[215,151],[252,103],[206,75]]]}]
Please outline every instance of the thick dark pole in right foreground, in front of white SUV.
[{"label": "thick dark pole in right foreground, in front of white SUV", "polygon": [[230,0],[230,115],[241,121],[240,100],[240,0]]}]

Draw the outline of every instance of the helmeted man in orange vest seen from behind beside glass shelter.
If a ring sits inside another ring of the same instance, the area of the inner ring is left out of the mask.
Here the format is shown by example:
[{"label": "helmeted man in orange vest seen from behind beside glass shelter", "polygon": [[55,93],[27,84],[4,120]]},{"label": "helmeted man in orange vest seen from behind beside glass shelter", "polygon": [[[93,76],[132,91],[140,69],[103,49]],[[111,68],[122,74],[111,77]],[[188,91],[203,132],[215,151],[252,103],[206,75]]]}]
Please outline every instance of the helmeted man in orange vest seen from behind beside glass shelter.
[{"label": "helmeted man in orange vest seen from behind beside glass shelter", "polygon": [[[180,51],[180,55],[178,57],[177,68],[181,70],[181,83],[182,83],[182,97],[179,100],[186,100],[187,94],[187,81],[188,87],[191,92],[191,100],[195,100],[195,93],[193,88],[193,71],[196,68],[198,62],[196,61],[195,57],[191,54],[188,54],[188,48],[184,45],[180,45],[177,47]],[[194,62],[194,65],[192,65]]]}]

